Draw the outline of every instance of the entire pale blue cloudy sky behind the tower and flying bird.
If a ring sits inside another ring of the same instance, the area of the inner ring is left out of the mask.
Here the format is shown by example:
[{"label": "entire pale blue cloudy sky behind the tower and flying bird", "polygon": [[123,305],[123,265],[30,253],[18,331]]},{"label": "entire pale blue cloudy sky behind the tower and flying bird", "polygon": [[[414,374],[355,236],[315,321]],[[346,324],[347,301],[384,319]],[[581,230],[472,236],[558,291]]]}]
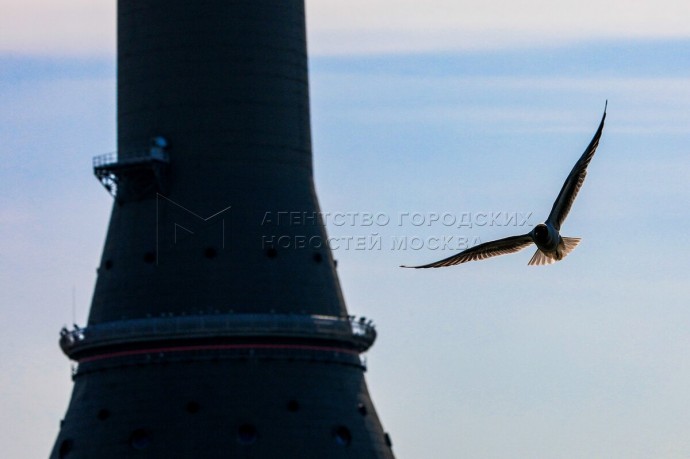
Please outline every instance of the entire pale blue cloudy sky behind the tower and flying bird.
[{"label": "entire pale blue cloudy sky behind the tower and flying bird", "polygon": [[[690,456],[690,8],[307,1],[315,180],[399,459]],[[0,444],[46,457],[112,198],[115,4],[0,0]],[[564,261],[403,270],[548,214]],[[374,223],[368,224],[370,217]],[[361,241],[364,241],[363,243]]]}]

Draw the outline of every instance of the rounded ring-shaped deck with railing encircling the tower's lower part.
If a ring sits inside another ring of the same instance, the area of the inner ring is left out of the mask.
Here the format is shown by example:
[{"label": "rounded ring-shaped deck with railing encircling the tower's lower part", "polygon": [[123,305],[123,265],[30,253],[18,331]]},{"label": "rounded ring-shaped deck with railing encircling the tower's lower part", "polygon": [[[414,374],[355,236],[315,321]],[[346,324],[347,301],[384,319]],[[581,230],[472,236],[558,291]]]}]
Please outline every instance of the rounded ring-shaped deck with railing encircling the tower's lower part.
[{"label": "rounded ring-shaped deck with railing encircling the tower's lower part", "polygon": [[171,352],[302,349],[359,355],[376,339],[371,321],[304,314],[217,314],[120,320],[60,331],[78,363]]}]

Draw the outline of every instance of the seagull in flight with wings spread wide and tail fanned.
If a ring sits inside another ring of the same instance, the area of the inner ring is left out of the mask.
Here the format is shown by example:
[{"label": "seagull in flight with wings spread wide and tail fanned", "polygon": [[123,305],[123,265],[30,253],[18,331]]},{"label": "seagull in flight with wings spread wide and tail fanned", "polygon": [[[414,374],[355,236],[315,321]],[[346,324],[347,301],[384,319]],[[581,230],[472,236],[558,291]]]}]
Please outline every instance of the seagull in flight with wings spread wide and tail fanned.
[{"label": "seagull in flight with wings spread wide and tail fanned", "polygon": [[485,242],[476,245],[467,250],[464,250],[452,257],[444,258],[433,263],[421,266],[401,266],[401,268],[442,268],[445,266],[459,265],[474,260],[483,260],[485,258],[495,257],[498,255],[505,255],[508,253],[518,252],[532,244],[536,244],[537,251],[529,261],[529,265],[540,266],[550,265],[565,258],[575,247],[580,243],[579,237],[563,237],[560,234],[561,225],[570,212],[570,208],[577,197],[578,191],[582,188],[587,175],[587,166],[594,157],[599,146],[599,139],[601,132],[604,129],[604,120],[606,119],[606,107],[608,101],[604,105],[604,114],[601,117],[599,128],[594,134],[592,141],[585,149],[580,159],[575,163],[573,170],[570,171],[568,178],[558,193],[556,201],[553,203],[549,218],[544,223],[540,223],[527,234],[522,236],[511,236],[496,241]]}]

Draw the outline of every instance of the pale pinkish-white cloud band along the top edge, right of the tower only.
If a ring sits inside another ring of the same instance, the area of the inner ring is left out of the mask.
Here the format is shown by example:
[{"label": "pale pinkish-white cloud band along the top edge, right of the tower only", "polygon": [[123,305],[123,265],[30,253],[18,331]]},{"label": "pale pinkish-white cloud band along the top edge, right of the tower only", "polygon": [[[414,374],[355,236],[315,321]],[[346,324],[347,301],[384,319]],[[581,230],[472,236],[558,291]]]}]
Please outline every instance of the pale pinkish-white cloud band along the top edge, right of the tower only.
[{"label": "pale pinkish-white cloud band along the top edge, right of the tower only", "polygon": [[581,40],[681,38],[682,0],[308,1],[317,54],[554,46]]}]

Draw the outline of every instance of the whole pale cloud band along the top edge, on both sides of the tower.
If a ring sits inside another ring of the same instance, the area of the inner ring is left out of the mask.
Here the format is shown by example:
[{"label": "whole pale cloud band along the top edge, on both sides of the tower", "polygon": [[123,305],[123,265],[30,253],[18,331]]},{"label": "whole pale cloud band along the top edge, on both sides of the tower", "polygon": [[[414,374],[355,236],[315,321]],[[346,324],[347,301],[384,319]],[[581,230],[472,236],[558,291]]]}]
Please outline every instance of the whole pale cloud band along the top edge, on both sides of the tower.
[{"label": "whole pale cloud band along the top edge, on both sides of the tower", "polygon": [[[307,0],[314,54],[553,46],[690,36],[683,0]],[[0,52],[115,51],[116,1],[0,0]]]}]

